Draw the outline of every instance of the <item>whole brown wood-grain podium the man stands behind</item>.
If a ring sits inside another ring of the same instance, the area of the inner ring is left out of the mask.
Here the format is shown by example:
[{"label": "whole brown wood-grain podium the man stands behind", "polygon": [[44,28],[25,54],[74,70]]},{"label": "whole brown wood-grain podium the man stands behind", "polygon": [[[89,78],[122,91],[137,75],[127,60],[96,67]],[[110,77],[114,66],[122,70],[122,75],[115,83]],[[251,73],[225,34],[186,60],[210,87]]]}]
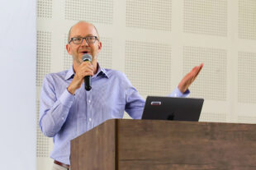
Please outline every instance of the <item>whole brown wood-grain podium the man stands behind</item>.
[{"label": "whole brown wood-grain podium the man stands behind", "polygon": [[71,141],[72,170],[255,170],[256,125],[112,119]]}]

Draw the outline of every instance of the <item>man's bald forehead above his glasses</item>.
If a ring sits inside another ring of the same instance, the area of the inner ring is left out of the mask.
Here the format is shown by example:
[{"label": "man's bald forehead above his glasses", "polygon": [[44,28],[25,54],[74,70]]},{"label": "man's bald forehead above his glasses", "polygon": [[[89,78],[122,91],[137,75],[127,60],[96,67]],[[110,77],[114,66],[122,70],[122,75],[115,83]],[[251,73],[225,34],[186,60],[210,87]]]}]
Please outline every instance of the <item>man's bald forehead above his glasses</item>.
[{"label": "man's bald forehead above his glasses", "polygon": [[76,25],[73,25],[71,32],[70,32],[70,37],[73,36],[87,36],[87,35],[97,35],[97,30],[95,30],[94,26],[86,23],[86,22],[81,22]]}]

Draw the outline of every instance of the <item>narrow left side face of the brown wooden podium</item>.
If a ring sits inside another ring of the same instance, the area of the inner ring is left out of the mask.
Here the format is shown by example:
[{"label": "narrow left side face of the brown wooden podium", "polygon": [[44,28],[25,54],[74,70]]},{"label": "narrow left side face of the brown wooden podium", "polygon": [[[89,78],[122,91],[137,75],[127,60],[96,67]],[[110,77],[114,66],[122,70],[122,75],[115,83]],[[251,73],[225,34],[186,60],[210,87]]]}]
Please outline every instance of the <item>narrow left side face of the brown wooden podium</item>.
[{"label": "narrow left side face of the brown wooden podium", "polygon": [[71,140],[70,163],[72,170],[115,170],[116,120],[104,122]]}]

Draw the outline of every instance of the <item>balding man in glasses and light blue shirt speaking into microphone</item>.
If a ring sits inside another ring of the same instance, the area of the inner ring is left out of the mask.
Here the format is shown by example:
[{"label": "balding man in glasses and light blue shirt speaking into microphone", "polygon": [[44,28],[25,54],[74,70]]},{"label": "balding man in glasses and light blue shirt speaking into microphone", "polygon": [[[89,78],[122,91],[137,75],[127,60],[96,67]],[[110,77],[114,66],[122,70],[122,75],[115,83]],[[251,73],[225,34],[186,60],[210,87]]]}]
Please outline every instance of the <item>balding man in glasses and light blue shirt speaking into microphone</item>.
[{"label": "balding man in glasses and light blue shirt speaking into microphone", "polygon": [[[40,129],[53,137],[53,169],[69,168],[70,140],[111,118],[122,118],[124,111],[140,119],[145,100],[120,71],[104,69],[97,63],[102,42],[94,25],[79,21],[69,30],[67,52],[73,57],[68,71],[45,76],[40,95]],[[83,55],[92,62],[83,62]],[[173,96],[185,97],[188,86],[201,71],[194,67],[174,90]],[[92,90],[85,90],[84,76],[92,76]]]}]

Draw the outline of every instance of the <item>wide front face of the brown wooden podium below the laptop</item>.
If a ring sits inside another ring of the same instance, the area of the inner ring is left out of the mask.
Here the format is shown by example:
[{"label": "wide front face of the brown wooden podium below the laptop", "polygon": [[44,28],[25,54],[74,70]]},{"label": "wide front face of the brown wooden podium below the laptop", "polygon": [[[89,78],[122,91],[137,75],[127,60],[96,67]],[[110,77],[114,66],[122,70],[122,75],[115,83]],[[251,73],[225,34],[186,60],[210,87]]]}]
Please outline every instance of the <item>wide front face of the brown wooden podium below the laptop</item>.
[{"label": "wide front face of the brown wooden podium below the laptop", "polygon": [[256,125],[122,120],[119,170],[256,169]]}]

